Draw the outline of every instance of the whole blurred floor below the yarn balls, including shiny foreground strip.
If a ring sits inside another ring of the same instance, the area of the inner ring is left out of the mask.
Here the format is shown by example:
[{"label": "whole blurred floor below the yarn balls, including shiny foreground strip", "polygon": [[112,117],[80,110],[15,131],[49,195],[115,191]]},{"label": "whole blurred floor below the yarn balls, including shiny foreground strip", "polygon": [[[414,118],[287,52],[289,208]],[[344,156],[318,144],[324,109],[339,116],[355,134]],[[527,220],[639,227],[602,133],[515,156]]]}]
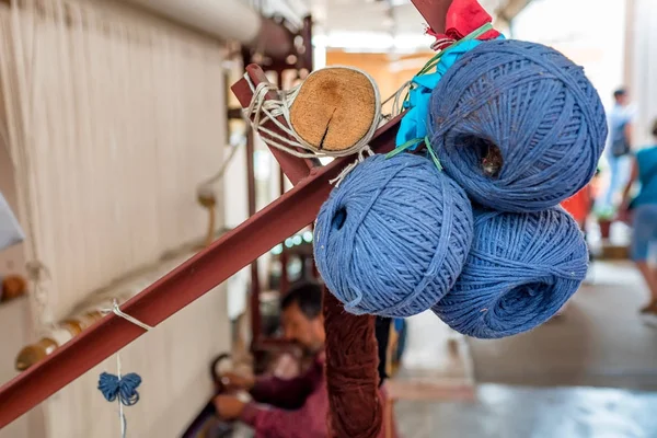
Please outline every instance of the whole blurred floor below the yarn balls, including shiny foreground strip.
[{"label": "whole blurred floor below the yarn balls, including shiny foreground strip", "polygon": [[[637,316],[646,290],[626,263],[597,263],[591,274],[562,319],[506,339],[469,339],[475,401],[400,401],[402,436],[657,438],[657,392],[645,392],[657,391],[657,328]],[[439,357],[440,335],[426,315],[410,321],[408,365],[458,374]]]}]

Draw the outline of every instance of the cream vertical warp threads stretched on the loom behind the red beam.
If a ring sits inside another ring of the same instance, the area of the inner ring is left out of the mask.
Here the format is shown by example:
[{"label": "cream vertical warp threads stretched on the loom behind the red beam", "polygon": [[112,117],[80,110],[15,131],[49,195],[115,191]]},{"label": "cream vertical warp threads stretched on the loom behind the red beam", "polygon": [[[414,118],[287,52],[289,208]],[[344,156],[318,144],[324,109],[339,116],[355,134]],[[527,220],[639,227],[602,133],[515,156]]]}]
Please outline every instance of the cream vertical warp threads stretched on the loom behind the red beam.
[{"label": "cream vertical warp threads stretched on the loom behind the red beam", "polygon": [[[16,181],[27,180],[7,170],[11,161],[0,145],[0,189],[13,207],[21,196],[35,207],[34,241],[53,273],[48,307],[61,318],[92,290],[205,235],[196,184],[222,162],[223,47],[114,2],[21,3],[36,5],[35,13],[26,16],[0,2],[0,32],[23,24],[0,41],[0,84],[13,93],[0,101],[0,128],[11,130],[14,153],[31,152],[33,165],[21,169],[36,188],[18,189]],[[26,39],[16,43],[18,35]],[[30,56],[22,58],[19,46]],[[26,111],[30,93],[37,96],[35,112]],[[4,184],[16,185],[18,196],[5,193]],[[221,228],[221,193],[218,204]],[[25,209],[18,210],[24,219]],[[16,269],[25,262],[20,249],[0,254],[0,267],[9,258],[16,260]],[[1,380],[14,374],[21,347],[37,339],[30,333],[27,303],[0,308]],[[143,379],[141,401],[126,408],[128,436],[177,436],[211,394],[210,359],[229,348],[223,286],[126,347],[123,371]],[[119,436],[117,405],[96,388],[102,371],[115,373],[116,359],[62,389],[0,437]]]}]

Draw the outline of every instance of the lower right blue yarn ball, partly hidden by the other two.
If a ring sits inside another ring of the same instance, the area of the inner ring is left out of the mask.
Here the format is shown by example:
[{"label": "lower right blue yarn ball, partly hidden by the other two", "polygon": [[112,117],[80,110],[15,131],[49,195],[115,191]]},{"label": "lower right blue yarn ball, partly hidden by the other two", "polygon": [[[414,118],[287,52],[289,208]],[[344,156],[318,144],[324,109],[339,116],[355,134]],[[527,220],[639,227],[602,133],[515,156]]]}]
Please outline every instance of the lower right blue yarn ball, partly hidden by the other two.
[{"label": "lower right blue yarn ball, partly hidden by the other two", "polygon": [[540,212],[475,211],[463,272],[434,312],[465,335],[498,338],[552,318],[575,293],[588,250],[561,207]]}]

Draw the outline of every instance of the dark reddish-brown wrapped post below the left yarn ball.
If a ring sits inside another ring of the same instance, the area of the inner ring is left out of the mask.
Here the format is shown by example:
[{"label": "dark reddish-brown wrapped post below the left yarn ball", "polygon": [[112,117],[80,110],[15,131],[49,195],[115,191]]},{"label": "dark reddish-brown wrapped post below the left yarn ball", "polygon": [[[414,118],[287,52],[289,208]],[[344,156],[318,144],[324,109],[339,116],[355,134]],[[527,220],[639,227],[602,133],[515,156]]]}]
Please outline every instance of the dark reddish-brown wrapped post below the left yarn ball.
[{"label": "dark reddish-brown wrapped post below the left yarn ball", "polygon": [[376,438],[382,427],[374,316],[347,313],[324,288],[331,438]]}]

